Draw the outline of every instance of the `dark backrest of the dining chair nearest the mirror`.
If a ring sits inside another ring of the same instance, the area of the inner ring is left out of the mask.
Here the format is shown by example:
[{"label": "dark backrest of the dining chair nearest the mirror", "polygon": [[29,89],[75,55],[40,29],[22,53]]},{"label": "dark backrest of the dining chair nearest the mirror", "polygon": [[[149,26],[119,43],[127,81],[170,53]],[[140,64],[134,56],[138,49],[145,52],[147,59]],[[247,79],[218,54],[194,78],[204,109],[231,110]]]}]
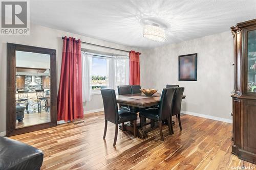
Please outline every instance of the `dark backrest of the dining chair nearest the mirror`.
[{"label": "dark backrest of the dining chair nearest the mirror", "polygon": [[105,120],[108,120],[114,124],[118,124],[118,109],[116,103],[116,93],[112,89],[100,89],[103,105]]}]

